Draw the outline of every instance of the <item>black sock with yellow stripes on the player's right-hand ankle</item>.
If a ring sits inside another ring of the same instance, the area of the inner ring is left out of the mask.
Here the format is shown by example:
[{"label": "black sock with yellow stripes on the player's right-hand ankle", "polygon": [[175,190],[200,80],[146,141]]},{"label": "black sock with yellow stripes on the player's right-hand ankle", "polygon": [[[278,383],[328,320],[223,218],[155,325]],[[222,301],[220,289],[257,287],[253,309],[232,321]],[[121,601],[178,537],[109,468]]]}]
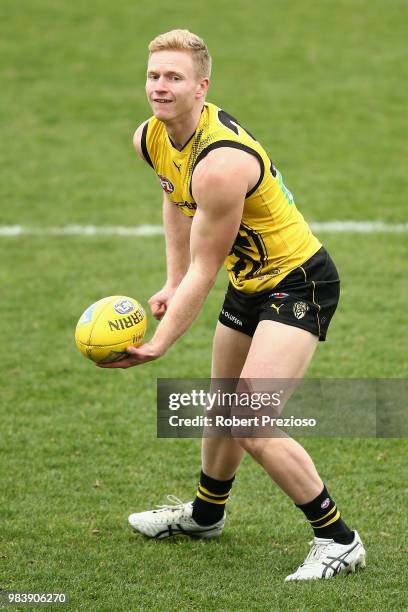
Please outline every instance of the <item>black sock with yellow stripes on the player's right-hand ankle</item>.
[{"label": "black sock with yellow stripes on the player's right-hand ankle", "polygon": [[340,512],[326,487],[311,502],[296,506],[304,512],[318,538],[332,538],[339,544],[350,544],[353,541],[354,532],[340,518]]}]

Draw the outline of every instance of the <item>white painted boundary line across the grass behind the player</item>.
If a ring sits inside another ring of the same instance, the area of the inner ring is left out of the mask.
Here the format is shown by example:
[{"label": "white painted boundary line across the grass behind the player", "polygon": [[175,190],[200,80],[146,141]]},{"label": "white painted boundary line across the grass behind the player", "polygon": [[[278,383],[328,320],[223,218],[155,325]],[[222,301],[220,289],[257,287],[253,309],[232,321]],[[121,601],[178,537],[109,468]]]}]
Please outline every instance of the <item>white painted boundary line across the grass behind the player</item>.
[{"label": "white painted boundary line across the grass behind the player", "polygon": [[[384,223],[383,221],[312,221],[314,232],[330,234],[405,234],[408,223]],[[63,227],[30,227],[25,225],[0,225],[0,237],[13,236],[158,236],[164,233],[161,225],[103,226],[65,225]]]}]

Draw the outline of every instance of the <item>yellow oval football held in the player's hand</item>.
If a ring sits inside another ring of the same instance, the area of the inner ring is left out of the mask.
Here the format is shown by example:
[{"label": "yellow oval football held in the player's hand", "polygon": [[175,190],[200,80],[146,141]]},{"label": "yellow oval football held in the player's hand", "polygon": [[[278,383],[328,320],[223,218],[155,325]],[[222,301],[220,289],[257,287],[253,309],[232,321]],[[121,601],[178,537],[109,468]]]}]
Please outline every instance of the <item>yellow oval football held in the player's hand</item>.
[{"label": "yellow oval football held in the player's hand", "polygon": [[111,295],[85,310],[75,330],[81,353],[98,363],[127,357],[127,346],[140,346],[147,329],[147,317],[137,300]]}]

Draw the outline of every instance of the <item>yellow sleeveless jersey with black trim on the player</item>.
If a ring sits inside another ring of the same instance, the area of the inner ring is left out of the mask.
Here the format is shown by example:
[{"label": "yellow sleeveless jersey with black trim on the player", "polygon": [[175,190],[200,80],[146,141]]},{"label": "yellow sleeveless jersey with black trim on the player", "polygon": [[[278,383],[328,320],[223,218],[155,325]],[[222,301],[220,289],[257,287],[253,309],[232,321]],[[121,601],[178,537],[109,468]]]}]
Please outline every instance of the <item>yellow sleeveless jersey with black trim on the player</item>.
[{"label": "yellow sleeveless jersey with black trim on the player", "polygon": [[263,147],[214,104],[205,103],[197,129],[181,151],[155,117],[146,122],[141,144],[169,200],[189,217],[197,208],[191,190],[193,172],[210,151],[237,148],[258,159],[259,180],[246,194],[239,232],[225,260],[238,291],[252,294],[272,289],[321,247]]}]

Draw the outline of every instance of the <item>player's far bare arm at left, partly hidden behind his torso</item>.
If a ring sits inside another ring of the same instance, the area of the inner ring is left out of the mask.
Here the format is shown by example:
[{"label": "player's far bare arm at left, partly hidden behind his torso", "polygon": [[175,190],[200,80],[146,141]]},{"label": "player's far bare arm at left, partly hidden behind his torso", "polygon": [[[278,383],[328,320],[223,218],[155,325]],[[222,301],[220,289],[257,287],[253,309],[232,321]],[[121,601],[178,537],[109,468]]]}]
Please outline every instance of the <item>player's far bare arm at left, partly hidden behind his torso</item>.
[{"label": "player's far bare arm at left, partly hidden behind his torso", "polygon": [[[139,157],[149,163],[142,146],[142,134],[146,123],[145,121],[137,128],[133,137],[133,145]],[[167,281],[164,287],[149,300],[153,316],[159,320],[166,313],[190,265],[191,219],[184,215],[165,193],[163,193],[163,225],[166,239]]]}]

